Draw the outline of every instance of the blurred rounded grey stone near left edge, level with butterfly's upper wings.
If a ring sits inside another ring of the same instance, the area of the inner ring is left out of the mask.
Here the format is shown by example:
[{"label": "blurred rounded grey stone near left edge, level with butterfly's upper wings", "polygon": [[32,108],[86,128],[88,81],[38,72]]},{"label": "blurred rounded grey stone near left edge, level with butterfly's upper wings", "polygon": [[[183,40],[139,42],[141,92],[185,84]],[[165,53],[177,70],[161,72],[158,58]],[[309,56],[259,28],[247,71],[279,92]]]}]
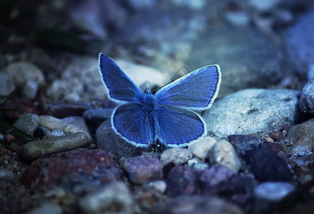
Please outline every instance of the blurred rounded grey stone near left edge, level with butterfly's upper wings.
[{"label": "blurred rounded grey stone near left edge, level with butterfly's upper wings", "polygon": [[36,80],[39,86],[44,85],[44,74],[32,63],[24,61],[11,63],[4,68],[4,72],[12,76],[14,84],[19,87],[22,87],[28,79]]}]

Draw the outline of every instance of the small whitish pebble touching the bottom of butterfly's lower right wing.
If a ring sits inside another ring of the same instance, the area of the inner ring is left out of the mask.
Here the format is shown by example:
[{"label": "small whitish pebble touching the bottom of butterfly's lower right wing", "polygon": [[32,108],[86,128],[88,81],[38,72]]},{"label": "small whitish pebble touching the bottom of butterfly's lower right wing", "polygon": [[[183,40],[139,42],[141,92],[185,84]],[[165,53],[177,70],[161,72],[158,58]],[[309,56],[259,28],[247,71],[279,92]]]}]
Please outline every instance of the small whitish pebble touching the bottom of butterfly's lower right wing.
[{"label": "small whitish pebble touching the bottom of butterfly's lower right wing", "polygon": [[215,145],[215,143],[216,140],[214,138],[200,138],[188,145],[188,151],[190,151],[196,158],[205,159],[208,151]]}]

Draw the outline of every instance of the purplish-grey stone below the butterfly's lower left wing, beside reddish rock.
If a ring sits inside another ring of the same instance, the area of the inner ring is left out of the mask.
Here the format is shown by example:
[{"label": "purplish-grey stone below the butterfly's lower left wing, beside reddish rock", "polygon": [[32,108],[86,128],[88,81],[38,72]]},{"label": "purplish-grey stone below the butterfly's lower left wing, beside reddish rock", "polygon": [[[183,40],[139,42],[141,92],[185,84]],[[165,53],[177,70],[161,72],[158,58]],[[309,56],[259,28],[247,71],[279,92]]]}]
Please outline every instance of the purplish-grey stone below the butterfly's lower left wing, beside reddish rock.
[{"label": "purplish-grey stone below the butterfly's lower left wing, beside reddish rock", "polygon": [[163,179],[163,165],[157,158],[126,158],[121,161],[121,168],[134,185]]}]

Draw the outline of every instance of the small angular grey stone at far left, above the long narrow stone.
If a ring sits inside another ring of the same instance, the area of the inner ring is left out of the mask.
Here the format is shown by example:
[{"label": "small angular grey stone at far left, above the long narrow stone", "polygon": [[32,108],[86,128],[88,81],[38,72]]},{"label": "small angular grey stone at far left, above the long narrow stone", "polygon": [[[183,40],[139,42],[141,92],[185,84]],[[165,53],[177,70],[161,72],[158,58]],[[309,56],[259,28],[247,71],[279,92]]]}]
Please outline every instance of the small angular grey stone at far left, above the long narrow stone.
[{"label": "small angular grey stone at far left, above the long narrow stone", "polygon": [[33,136],[36,128],[39,126],[39,116],[31,113],[24,114],[24,116],[21,116],[14,122],[13,126]]}]

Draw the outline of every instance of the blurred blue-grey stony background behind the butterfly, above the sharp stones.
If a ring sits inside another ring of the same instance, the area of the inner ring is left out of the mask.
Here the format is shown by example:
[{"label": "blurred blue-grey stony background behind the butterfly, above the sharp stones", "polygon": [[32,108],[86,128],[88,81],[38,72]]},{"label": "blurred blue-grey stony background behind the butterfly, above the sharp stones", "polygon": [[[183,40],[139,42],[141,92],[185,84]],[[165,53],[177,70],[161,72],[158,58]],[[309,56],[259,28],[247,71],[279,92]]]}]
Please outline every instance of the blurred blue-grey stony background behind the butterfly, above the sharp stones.
[{"label": "blurred blue-grey stony background behind the butterfly, above the sharp stones", "polygon": [[300,89],[314,79],[314,1],[0,4],[1,96],[106,107],[99,52],[142,86],[218,63],[219,98],[243,88]]}]

